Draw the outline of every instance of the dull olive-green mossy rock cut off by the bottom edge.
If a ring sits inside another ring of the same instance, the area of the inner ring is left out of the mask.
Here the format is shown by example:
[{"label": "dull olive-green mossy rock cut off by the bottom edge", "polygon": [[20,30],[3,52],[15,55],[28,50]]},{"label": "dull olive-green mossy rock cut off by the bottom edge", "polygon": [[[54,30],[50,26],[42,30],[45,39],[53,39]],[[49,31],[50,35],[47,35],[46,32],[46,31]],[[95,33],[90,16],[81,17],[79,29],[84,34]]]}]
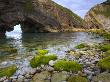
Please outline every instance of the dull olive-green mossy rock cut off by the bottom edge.
[{"label": "dull olive-green mossy rock cut off by the bottom edge", "polygon": [[67,82],[89,82],[87,78],[81,76],[72,76],[69,77]]}]

